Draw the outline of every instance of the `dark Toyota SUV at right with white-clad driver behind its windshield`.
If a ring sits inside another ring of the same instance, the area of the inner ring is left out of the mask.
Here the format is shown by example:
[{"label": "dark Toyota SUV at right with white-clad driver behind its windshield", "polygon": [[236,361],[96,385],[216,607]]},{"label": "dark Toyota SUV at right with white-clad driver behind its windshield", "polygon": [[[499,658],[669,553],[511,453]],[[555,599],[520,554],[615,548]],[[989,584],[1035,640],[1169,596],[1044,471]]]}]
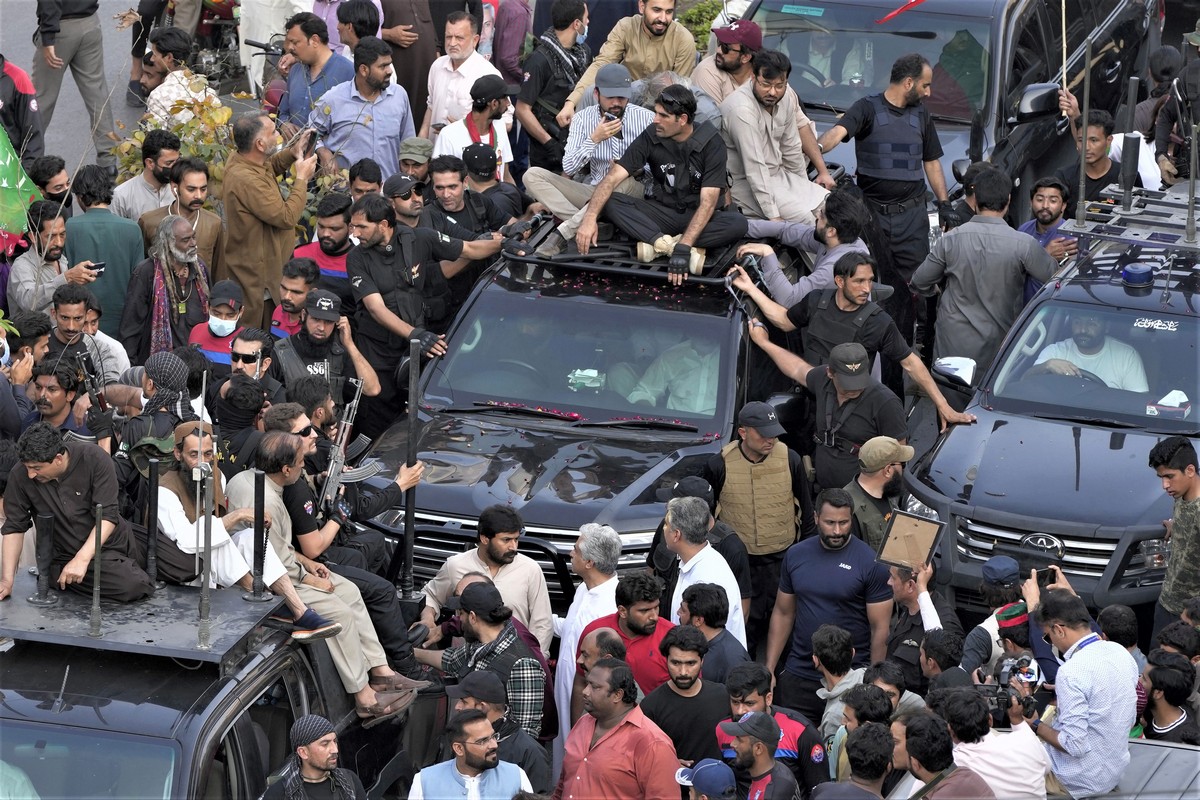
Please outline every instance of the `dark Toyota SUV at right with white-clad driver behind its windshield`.
[{"label": "dark Toyota SUV at right with white-clad driver behind its windshield", "polygon": [[[1182,190],[1145,197],[1132,213],[1097,205],[1108,213],[1084,229],[1063,224],[1080,255],[1026,306],[974,384],[978,422],[942,434],[906,473],[908,511],[946,523],[938,576],[959,608],[990,610],[977,590],[996,554],[1060,565],[1098,608],[1158,597],[1171,503],[1146,463],[1159,439],[1200,435],[1200,246],[1186,241]],[[1110,339],[1104,377],[1079,363],[1078,377],[1038,368],[1099,332]]]}]

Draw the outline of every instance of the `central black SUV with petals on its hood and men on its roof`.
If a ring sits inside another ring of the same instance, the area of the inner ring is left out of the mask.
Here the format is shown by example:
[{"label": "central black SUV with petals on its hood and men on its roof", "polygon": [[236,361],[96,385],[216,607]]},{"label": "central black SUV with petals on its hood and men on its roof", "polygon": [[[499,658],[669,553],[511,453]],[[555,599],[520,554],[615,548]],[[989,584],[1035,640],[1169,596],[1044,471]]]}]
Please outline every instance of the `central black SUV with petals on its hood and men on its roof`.
[{"label": "central black SUV with petals on its hood and men on its roof", "polygon": [[[745,312],[724,281],[673,288],[661,264],[562,258],[493,267],[458,313],[446,355],[424,368],[418,588],[474,547],[482,509],[505,504],[526,523],[522,552],[565,608],[580,527],[612,525],[622,569],[644,565],[664,515],[658,491],[698,474],[730,441],[748,349]],[[406,416],[372,455],[394,474],[408,446]],[[397,509],[368,525],[398,541],[403,519]]]}]

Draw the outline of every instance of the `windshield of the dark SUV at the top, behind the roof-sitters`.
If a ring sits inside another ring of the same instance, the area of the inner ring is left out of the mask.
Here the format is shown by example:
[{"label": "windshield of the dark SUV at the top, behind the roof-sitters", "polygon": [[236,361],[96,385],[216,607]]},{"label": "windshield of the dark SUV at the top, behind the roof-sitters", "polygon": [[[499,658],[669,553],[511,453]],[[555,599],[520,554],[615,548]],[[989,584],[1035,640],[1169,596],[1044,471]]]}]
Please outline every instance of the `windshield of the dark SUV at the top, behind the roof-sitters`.
[{"label": "windshield of the dark SUV at the top, behind the roof-sitters", "polygon": [[986,101],[990,20],[905,11],[878,22],[902,0],[859,6],[766,0],[754,14],[763,47],[792,60],[791,84],[806,106],[845,110],[887,89],[892,64],[920,53],[934,65],[925,107],[964,122]]}]

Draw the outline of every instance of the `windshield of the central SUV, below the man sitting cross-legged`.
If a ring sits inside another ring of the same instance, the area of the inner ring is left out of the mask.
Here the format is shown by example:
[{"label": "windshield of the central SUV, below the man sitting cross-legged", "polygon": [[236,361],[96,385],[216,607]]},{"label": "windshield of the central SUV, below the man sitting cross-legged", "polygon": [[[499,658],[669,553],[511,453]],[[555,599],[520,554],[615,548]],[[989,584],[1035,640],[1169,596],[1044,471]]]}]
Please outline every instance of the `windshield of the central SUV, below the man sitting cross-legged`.
[{"label": "windshield of the central SUV, below the man sitting cross-legged", "polygon": [[732,372],[728,327],[713,324],[713,313],[728,307],[724,289],[673,291],[582,272],[541,288],[500,282],[508,290],[484,291],[455,331],[426,403],[492,403],[592,422],[701,426],[716,416]]}]

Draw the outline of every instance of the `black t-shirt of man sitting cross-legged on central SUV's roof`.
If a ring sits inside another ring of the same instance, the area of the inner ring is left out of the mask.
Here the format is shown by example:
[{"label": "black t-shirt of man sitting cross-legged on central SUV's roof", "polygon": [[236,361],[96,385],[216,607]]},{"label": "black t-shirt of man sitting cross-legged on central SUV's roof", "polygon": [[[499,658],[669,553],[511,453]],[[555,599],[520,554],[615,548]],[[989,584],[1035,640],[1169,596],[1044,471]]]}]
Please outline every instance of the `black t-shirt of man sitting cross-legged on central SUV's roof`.
[{"label": "black t-shirt of man sitting cross-legged on central SUV's roof", "polygon": [[634,139],[618,161],[630,175],[649,167],[654,198],[662,205],[695,210],[700,191],[724,191],[728,180],[725,142],[708,122],[701,122],[684,142],[661,139],[654,126]]}]

